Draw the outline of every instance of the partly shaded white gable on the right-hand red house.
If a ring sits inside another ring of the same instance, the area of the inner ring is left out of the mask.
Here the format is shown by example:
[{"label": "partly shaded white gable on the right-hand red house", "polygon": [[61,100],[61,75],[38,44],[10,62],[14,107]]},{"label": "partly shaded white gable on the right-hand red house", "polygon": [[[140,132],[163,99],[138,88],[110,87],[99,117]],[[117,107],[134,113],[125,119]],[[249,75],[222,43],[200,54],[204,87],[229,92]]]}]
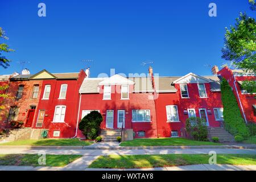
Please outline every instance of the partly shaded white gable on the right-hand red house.
[{"label": "partly shaded white gable on the right-hand red house", "polygon": [[177,80],[174,81],[174,84],[186,84],[186,83],[208,83],[211,82],[207,78],[201,77],[199,75],[196,75],[194,73],[188,73],[188,75],[185,75]]}]

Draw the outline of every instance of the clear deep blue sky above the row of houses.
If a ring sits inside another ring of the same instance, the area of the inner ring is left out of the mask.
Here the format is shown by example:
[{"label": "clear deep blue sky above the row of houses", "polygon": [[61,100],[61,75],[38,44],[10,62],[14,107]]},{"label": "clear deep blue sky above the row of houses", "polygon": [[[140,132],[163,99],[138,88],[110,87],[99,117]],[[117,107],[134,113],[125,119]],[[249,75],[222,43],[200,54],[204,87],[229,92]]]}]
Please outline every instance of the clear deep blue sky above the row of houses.
[{"label": "clear deep blue sky above the row of houses", "polygon": [[[38,4],[46,3],[46,17],[38,16]],[[217,17],[208,5],[217,5]],[[27,60],[31,73],[79,72],[91,67],[91,76],[108,73],[144,73],[141,62],[160,76],[189,72],[210,75],[209,65],[222,65],[225,27],[249,9],[247,0],[200,1],[21,1],[0,2],[0,27],[15,52],[0,74],[20,72],[16,61]],[[2,40],[1,40],[2,41]],[[81,60],[93,60],[83,62]]]}]

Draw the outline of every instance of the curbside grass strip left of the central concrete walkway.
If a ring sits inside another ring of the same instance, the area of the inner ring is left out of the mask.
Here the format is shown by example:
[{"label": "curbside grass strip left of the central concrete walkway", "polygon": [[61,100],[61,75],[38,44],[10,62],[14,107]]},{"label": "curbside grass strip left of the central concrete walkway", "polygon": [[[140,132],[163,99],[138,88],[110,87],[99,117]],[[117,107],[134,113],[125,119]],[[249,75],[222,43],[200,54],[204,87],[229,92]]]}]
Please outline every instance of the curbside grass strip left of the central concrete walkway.
[{"label": "curbside grass strip left of the central concrete walkway", "polygon": [[82,155],[46,155],[46,165],[40,165],[36,154],[8,154],[0,155],[0,166],[52,166],[64,167]]}]

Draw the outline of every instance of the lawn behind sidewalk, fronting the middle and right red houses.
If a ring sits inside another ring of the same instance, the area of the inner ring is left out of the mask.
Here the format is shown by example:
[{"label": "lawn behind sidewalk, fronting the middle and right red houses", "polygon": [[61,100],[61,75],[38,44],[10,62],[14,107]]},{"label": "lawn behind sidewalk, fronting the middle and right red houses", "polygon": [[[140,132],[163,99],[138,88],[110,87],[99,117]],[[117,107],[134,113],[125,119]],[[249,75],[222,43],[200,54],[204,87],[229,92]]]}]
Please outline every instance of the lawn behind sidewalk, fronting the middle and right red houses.
[{"label": "lawn behind sidewalk, fronting the middle and right red houses", "polygon": [[200,142],[185,138],[147,138],[125,141],[120,146],[216,146],[220,143]]}]

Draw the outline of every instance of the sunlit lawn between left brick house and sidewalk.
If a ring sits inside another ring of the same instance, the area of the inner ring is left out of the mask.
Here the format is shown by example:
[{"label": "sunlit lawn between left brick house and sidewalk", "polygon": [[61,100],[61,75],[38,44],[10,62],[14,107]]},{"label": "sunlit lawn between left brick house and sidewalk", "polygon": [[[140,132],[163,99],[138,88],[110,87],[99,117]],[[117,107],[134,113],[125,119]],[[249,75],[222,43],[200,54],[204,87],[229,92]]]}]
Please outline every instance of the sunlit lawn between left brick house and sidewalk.
[{"label": "sunlit lawn between left brick house and sidewalk", "polygon": [[1,143],[0,146],[89,146],[92,142],[80,141],[79,139],[39,139],[17,140],[14,142]]}]

